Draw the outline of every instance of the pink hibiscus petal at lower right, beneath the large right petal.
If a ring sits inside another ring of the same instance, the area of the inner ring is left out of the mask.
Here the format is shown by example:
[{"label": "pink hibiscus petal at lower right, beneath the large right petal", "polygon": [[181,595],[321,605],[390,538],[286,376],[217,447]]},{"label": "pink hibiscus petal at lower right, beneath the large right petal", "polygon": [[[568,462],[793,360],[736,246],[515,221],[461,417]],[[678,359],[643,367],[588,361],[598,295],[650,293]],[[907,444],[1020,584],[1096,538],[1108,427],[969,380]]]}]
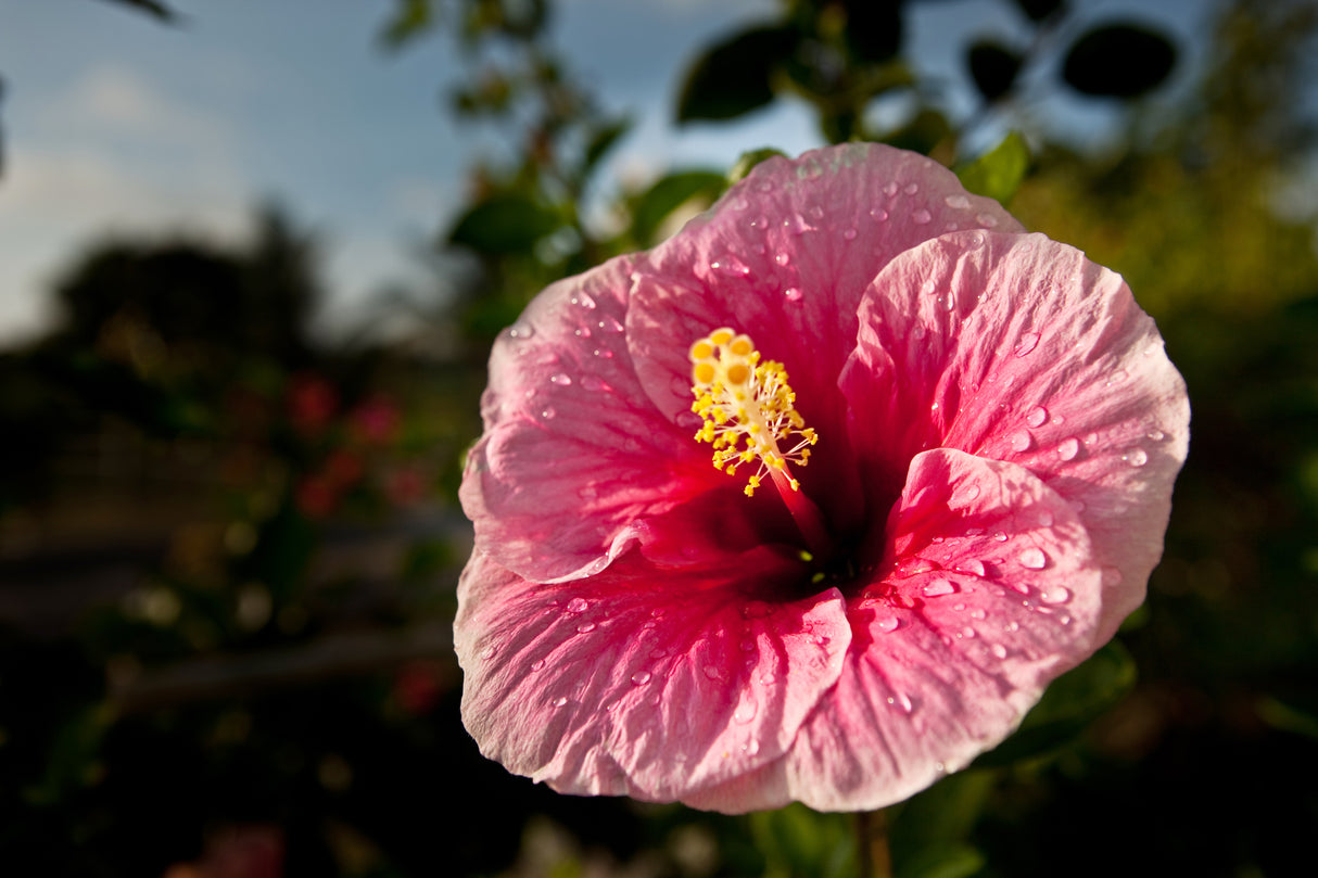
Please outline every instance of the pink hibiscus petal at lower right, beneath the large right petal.
[{"label": "pink hibiscus petal at lower right, beneath the large right petal", "polygon": [[879,808],[961,769],[1101,642],[1085,526],[1023,467],[917,455],[887,546],[847,610],[837,688],[784,759],[791,798],[812,808]]}]

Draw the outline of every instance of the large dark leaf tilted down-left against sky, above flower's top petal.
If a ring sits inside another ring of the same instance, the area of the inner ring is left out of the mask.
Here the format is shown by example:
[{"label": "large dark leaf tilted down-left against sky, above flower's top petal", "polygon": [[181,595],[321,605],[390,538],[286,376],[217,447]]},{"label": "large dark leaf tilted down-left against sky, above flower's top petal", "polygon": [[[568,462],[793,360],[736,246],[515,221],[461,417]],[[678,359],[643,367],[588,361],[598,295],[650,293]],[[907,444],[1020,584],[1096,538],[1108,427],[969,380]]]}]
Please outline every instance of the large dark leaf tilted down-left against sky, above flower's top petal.
[{"label": "large dark leaf tilted down-left against sky, above flower's top petal", "polygon": [[772,71],[797,38],[789,28],[755,28],[708,49],[687,71],[677,121],[735,119],[771,103]]}]

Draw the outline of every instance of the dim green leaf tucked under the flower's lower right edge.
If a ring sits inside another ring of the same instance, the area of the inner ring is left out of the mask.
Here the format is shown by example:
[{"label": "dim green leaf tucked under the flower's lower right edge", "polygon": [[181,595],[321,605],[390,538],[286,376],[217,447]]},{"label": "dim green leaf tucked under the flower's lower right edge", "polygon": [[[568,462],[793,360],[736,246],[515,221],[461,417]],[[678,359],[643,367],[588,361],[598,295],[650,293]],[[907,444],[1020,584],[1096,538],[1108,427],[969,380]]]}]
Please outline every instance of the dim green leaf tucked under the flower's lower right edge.
[{"label": "dim green leaf tucked under the flower's lower right edge", "polygon": [[1079,667],[1053,680],[1020,728],[975,766],[1006,766],[1033,759],[1077,738],[1135,687],[1135,659],[1112,641]]}]

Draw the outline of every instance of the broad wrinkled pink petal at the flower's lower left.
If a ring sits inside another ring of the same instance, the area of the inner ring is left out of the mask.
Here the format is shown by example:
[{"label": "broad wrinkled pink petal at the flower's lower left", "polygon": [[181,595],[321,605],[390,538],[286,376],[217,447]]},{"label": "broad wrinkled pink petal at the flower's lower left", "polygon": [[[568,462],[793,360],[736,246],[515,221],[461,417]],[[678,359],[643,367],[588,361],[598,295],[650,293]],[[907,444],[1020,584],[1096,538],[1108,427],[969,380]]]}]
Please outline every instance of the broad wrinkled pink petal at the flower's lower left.
[{"label": "broad wrinkled pink petal at the flower's lower left", "polygon": [[850,645],[836,589],[746,597],[799,575],[764,548],[704,575],[633,552],[544,585],[477,551],[455,626],[463,721],[485,755],[563,792],[671,802],[751,774],[792,745]]}]

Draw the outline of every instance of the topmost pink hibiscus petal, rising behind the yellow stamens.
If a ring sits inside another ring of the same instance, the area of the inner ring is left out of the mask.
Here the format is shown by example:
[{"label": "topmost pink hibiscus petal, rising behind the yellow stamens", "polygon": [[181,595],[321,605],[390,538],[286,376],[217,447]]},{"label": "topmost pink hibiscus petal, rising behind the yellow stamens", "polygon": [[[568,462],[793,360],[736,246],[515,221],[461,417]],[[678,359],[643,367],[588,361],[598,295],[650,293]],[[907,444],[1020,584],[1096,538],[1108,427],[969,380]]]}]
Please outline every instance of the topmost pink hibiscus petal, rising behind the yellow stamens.
[{"label": "topmost pink hibiscus petal, rising behind the yellow stamens", "polygon": [[787,366],[797,409],[821,436],[816,459],[833,461],[803,481],[821,496],[851,494],[836,386],[855,345],[857,306],[890,260],[952,228],[1020,224],[937,162],[878,144],[762,162],[637,257],[627,344],[642,386],[677,418],[691,406],[691,343],[721,326],[749,334]]}]

